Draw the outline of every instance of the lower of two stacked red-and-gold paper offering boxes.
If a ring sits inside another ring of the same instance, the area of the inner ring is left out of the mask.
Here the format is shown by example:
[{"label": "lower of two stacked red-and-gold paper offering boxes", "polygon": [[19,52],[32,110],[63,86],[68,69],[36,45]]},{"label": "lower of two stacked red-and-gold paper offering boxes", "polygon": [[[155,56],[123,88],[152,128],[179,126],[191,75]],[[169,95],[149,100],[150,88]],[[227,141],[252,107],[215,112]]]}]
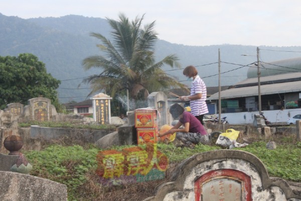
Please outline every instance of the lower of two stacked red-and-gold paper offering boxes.
[{"label": "lower of two stacked red-and-gold paper offering boxes", "polygon": [[138,144],[147,142],[156,143],[158,141],[158,127],[156,128],[137,128]]}]

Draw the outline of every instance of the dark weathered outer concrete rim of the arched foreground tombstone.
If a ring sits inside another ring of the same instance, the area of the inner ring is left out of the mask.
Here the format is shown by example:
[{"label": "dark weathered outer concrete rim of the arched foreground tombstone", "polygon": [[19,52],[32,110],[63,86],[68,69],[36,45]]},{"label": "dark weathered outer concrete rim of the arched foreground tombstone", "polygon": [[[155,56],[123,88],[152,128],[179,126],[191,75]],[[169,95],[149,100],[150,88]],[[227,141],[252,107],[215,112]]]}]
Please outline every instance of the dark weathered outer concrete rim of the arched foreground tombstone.
[{"label": "dark weathered outer concrete rim of the arched foreground tombstone", "polygon": [[[282,178],[277,178],[277,177],[269,177],[266,168],[264,167],[263,163],[260,161],[259,158],[257,158],[255,155],[245,152],[245,151],[239,151],[239,150],[215,150],[215,151],[208,151],[208,152],[203,152],[196,154],[194,156],[191,156],[190,158],[182,161],[175,169],[174,173],[171,176],[171,181],[163,183],[162,185],[159,186],[156,195],[152,197],[148,197],[144,199],[144,201],[162,201],[162,200],[167,200],[166,196],[170,193],[174,193],[174,196],[169,196],[168,200],[186,200],[183,196],[184,199],[171,199],[171,197],[176,197],[175,194],[183,193],[187,195],[187,200],[188,197],[194,197],[191,196],[191,189],[185,188],[185,185],[187,183],[187,178],[188,176],[192,175],[192,172],[196,171],[196,166],[202,166],[203,163],[203,169],[210,171],[212,169],[212,166],[217,163],[225,163],[227,161],[244,161],[248,164],[250,164],[250,168],[254,171],[256,171],[261,180],[261,186],[257,189],[257,191],[262,192],[264,190],[267,190],[268,192],[273,191],[274,189],[271,189],[273,187],[276,187],[275,189],[278,190],[280,188],[282,190],[279,190],[280,194],[283,193],[286,197],[284,200],[301,200],[301,183],[295,183],[295,182],[288,182]],[[212,162],[212,166],[206,166]],[[235,168],[235,165],[233,166],[233,169]],[[222,168],[221,168],[222,169]],[[195,176],[194,178],[191,178],[194,182],[199,178],[199,175],[203,173],[198,173],[198,176]],[[254,175],[250,175],[251,178],[253,179]],[[253,184],[252,184],[253,185]],[[278,187],[278,188],[277,188]],[[254,191],[254,190],[253,190]],[[254,197],[254,193],[252,191],[252,197],[253,200],[256,200],[256,197]],[[188,195],[189,194],[189,195]],[[189,199],[190,200],[190,199]],[[283,200],[283,199],[281,199]]]}]

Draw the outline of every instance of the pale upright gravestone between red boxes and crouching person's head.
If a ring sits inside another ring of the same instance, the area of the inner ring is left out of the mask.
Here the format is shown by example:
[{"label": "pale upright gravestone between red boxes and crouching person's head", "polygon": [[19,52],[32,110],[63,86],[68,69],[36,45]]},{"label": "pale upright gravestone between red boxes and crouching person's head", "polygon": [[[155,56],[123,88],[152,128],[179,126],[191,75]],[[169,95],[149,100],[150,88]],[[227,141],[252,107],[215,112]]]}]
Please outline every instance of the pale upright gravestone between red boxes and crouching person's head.
[{"label": "pale upright gravestone between red boxes and crouching person's head", "polygon": [[159,128],[165,124],[171,123],[168,121],[167,95],[164,92],[159,91],[150,93],[147,97],[147,104],[149,108],[156,109],[159,112]]}]

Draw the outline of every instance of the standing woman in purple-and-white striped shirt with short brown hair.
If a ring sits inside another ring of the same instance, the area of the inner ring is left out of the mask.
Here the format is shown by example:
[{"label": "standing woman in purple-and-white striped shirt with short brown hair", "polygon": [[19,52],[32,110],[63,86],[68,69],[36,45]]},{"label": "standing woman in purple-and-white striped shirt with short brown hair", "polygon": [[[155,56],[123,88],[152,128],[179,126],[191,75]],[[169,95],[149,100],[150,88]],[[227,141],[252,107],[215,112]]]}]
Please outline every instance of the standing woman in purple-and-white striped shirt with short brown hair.
[{"label": "standing woman in purple-and-white striped shirt with short brown hair", "polygon": [[208,113],[206,104],[207,88],[205,82],[198,75],[198,71],[194,66],[187,66],[183,74],[192,80],[190,95],[181,96],[181,100],[190,100],[191,114],[195,116],[202,125],[204,125],[203,118]]}]

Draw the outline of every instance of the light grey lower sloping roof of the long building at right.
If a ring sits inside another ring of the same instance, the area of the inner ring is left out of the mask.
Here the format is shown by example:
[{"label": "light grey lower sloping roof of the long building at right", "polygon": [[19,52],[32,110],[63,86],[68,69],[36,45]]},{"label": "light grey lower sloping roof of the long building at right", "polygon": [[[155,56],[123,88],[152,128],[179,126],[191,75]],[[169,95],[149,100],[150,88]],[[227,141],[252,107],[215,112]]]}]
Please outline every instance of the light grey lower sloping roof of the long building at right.
[{"label": "light grey lower sloping roof of the long building at right", "polygon": [[[276,83],[260,85],[261,95],[274,94],[274,93],[288,93],[301,90],[301,81]],[[258,86],[249,86],[241,88],[231,88],[221,91],[221,99],[247,97],[258,95]],[[219,99],[218,93],[211,95],[208,100]]]}]

